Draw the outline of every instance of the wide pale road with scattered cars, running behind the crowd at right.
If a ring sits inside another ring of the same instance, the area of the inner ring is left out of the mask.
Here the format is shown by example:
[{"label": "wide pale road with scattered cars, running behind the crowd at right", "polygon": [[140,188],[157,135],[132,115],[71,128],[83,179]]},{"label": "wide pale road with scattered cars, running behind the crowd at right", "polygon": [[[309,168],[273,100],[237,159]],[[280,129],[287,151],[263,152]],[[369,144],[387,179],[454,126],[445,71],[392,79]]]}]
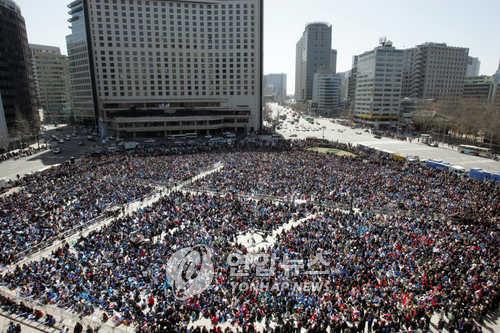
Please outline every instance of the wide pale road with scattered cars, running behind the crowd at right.
[{"label": "wide pale road with scattered cars, running behind the crowd at right", "polygon": [[[401,141],[391,138],[376,139],[372,134],[364,132],[363,129],[352,129],[347,126],[333,123],[331,119],[316,118],[315,124],[309,124],[304,118],[300,118],[297,124],[291,125],[288,120],[291,119],[293,111],[278,104],[270,104],[274,116],[287,115],[287,123],[278,130],[285,138],[306,138],[316,137],[325,138],[330,141],[342,143],[351,143],[353,145],[364,145],[388,153],[399,154],[402,156],[418,156],[422,159],[433,159],[448,162],[452,165],[459,165],[467,170],[480,168],[489,172],[500,173],[500,162],[487,158],[465,155],[459,153],[451,146],[440,144],[440,147],[429,147],[419,142]],[[323,131],[323,127],[326,129]],[[302,129],[307,129],[304,131]],[[299,130],[299,131],[298,131]]]}]

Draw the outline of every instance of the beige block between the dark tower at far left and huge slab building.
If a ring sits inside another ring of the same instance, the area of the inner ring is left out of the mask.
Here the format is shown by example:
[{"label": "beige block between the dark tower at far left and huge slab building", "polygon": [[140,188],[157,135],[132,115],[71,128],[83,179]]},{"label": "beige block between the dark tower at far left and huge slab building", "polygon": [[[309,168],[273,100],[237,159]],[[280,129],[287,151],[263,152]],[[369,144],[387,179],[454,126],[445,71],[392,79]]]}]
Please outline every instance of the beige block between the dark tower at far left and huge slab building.
[{"label": "beige block between the dark tower at far left and huge slab building", "polygon": [[37,101],[47,123],[70,119],[68,58],[58,47],[30,44]]}]

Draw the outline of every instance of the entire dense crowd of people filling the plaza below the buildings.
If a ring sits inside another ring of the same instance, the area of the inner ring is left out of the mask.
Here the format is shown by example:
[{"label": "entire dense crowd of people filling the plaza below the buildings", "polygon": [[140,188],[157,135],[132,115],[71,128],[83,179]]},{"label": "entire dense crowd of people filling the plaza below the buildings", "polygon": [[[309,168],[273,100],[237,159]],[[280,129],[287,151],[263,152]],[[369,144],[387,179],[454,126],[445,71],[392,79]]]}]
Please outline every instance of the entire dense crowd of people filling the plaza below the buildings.
[{"label": "entire dense crowd of people filling the plaza below the buildings", "polygon": [[[0,235],[7,241],[12,228],[26,221],[26,209],[15,209],[15,201],[21,207],[43,204],[54,218],[35,228],[57,235],[56,225],[68,226],[61,207],[72,207],[68,214],[99,213],[151,191],[148,183],[175,183],[213,163],[224,165],[192,184],[195,192],[171,193],[118,218],[48,258],[17,266],[0,284],[82,316],[98,312],[103,321],[144,333],[428,331],[433,315],[439,316],[438,328],[480,332],[477,323],[499,301],[498,185],[363,148],[338,145],[356,155],[338,157],[307,146],[114,155],[54,169],[61,174],[50,181],[41,175],[23,179],[23,190],[11,195],[18,199],[0,199],[0,221],[7,221]],[[80,189],[82,184],[90,185]],[[86,195],[89,203],[73,205]],[[40,203],[28,200],[33,197]],[[42,199],[56,204],[46,206]],[[306,217],[273,238],[280,226]],[[24,225],[21,231],[31,230],[32,224]],[[252,232],[272,244],[261,253],[277,259],[268,265],[272,274],[262,276],[252,261],[239,267],[247,274],[235,276],[228,258],[249,254],[238,236]],[[1,244],[9,250],[15,243]],[[199,244],[213,250],[212,284],[179,301],[167,261]],[[295,269],[283,264],[285,258]],[[321,288],[283,289],[284,283]]]}]

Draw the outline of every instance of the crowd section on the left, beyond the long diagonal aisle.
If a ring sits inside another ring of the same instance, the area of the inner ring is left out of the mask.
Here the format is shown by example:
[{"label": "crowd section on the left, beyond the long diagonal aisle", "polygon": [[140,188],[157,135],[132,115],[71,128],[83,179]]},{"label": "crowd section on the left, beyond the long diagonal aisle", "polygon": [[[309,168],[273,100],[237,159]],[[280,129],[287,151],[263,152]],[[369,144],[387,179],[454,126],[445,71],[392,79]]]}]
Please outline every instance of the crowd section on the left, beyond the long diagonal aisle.
[{"label": "crowd section on the left, beyond the long diagonal aisle", "polygon": [[63,231],[140,199],[155,183],[173,185],[208,168],[206,155],[87,158],[36,173],[0,197],[0,266]]}]

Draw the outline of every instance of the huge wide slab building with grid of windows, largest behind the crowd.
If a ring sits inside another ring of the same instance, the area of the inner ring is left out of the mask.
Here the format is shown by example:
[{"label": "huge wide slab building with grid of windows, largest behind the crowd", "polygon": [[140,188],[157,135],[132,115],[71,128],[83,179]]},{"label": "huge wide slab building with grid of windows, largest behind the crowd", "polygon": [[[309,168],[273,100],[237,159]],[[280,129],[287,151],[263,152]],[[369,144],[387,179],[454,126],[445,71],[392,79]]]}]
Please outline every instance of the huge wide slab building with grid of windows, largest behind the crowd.
[{"label": "huge wide slab building with grid of windows, largest behind the crowd", "polygon": [[73,95],[120,137],[258,131],[262,2],[73,1]]}]

